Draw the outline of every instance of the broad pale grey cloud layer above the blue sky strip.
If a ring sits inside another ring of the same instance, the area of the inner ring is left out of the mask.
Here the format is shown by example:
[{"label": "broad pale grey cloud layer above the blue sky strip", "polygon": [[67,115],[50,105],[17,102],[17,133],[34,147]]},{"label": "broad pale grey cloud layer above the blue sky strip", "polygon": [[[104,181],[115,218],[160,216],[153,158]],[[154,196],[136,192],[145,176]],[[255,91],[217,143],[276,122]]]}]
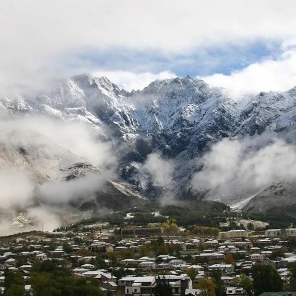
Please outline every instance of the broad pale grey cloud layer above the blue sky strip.
[{"label": "broad pale grey cloud layer above the blue sky strip", "polygon": [[0,89],[93,71],[89,51],[178,54],[228,42],[283,41],[296,36],[295,8],[293,0],[1,0]]}]

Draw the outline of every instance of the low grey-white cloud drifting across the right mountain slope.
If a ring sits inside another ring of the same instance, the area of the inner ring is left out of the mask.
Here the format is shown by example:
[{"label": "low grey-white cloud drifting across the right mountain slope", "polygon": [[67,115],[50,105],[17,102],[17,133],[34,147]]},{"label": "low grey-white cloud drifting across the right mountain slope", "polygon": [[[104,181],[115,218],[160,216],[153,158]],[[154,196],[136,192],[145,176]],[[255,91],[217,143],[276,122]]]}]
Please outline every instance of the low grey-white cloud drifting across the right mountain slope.
[{"label": "low grey-white cloud drifting across the right mountain slope", "polygon": [[278,182],[296,179],[296,148],[263,134],[254,139],[223,139],[200,160],[192,186],[210,199],[231,204]]}]

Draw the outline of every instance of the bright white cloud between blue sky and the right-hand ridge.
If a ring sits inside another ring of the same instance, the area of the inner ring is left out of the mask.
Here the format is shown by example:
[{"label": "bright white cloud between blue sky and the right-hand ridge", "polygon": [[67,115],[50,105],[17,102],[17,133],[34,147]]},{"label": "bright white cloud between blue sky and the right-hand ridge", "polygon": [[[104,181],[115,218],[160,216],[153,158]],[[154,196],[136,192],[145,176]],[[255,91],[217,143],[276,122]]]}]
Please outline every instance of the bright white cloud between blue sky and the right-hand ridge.
[{"label": "bright white cloud between blue sky and the right-hand ridge", "polygon": [[278,59],[266,58],[229,75],[213,74],[202,78],[205,82],[224,87],[234,96],[257,94],[260,91],[285,91],[296,85],[296,48],[283,43]]}]

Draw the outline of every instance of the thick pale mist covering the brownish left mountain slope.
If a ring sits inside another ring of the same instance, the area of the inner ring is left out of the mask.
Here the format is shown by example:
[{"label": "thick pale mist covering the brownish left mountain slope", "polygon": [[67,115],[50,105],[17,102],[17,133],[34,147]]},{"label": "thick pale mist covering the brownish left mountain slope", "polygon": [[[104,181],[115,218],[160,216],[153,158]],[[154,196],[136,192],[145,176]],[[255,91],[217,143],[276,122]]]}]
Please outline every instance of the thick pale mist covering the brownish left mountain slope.
[{"label": "thick pale mist covering the brownish left mountain slope", "polygon": [[116,177],[117,158],[111,142],[98,140],[102,133],[104,128],[78,120],[1,116],[0,233],[19,232],[11,221],[20,213],[32,222],[24,231],[40,230],[41,222],[44,230],[72,222],[74,209],[68,204],[94,196]]}]

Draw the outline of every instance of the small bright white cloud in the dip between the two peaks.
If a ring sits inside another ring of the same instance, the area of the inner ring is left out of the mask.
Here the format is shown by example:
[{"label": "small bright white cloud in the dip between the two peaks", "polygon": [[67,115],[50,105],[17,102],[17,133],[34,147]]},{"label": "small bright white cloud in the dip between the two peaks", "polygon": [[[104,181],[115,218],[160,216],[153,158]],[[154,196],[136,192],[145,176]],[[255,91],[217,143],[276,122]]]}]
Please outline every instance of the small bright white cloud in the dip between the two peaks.
[{"label": "small bright white cloud in the dip between the two peaks", "polygon": [[171,72],[160,72],[153,74],[150,72],[133,73],[128,71],[98,71],[93,73],[94,76],[106,76],[113,83],[117,84],[120,88],[124,88],[127,91],[142,90],[150,82],[156,79],[169,79],[175,78],[177,75]]}]

